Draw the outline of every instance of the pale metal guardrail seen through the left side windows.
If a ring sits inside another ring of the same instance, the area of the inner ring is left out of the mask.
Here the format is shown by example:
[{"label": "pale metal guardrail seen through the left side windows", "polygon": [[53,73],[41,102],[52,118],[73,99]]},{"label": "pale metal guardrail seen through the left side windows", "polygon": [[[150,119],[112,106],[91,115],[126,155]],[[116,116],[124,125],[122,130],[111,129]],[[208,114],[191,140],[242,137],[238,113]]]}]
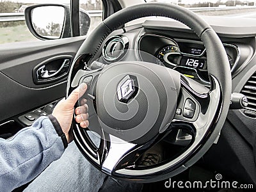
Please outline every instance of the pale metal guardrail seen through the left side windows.
[{"label": "pale metal guardrail seen through the left side windows", "polygon": [[[90,17],[101,17],[102,10],[87,11]],[[24,13],[0,13],[0,22],[20,21],[25,20]]]}]

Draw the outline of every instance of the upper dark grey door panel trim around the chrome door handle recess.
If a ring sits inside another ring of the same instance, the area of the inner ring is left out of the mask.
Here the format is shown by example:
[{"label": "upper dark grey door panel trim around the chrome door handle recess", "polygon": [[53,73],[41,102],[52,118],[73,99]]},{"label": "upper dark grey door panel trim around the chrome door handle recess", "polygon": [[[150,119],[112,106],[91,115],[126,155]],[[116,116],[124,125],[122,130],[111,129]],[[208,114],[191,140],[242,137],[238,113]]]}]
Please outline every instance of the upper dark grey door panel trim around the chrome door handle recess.
[{"label": "upper dark grey door panel trim around the chrome door handle recess", "polygon": [[10,44],[8,47],[2,45],[0,46],[0,71],[17,83],[29,88],[45,88],[60,83],[63,79],[54,83],[36,85],[33,81],[33,68],[56,56],[74,57],[83,41],[84,36],[79,36],[61,40]]}]

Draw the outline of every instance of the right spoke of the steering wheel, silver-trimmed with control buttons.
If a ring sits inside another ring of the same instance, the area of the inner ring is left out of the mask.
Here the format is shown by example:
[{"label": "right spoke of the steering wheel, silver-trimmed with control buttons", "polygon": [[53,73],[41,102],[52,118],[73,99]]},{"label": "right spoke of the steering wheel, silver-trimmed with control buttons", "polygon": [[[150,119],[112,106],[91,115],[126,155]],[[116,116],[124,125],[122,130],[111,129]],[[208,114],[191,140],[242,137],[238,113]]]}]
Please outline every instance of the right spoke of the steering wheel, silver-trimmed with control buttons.
[{"label": "right spoke of the steering wheel, silver-trimmed with control buttons", "polygon": [[208,89],[193,79],[180,80],[180,95],[173,121],[193,124],[195,129],[201,129],[212,120],[220,108],[221,91],[217,79],[211,76],[211,81],[211,89]]}]

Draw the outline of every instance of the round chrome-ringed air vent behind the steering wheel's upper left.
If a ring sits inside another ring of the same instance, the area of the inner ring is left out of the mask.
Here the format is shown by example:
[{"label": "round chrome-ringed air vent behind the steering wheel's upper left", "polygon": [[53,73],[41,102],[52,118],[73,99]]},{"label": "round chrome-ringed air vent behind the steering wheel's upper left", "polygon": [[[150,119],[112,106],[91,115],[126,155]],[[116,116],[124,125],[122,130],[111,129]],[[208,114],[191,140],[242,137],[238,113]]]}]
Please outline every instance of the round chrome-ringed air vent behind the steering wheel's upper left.
[{"label": "round chrome-ringed air vent behind the steering wheel's upper left", "polygon": [[102,48],[103,58],[106,61],[118,61],[125,54],[125,49],[129,47],[126,36],[112,36]]}]

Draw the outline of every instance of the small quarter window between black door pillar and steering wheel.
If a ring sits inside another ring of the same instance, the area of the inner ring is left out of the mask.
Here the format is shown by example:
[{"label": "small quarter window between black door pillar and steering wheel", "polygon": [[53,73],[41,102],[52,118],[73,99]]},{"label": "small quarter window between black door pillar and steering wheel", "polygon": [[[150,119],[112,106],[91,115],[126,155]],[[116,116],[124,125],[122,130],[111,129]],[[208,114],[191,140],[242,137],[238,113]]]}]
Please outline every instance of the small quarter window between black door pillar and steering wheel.
[{"label": "small quarter window between black door pillar and steering wheel", "polygon": [[[101,0],[90,0],[90,1],[80,0],[79,6],[81,10],[85,10],[90,15],[91,24],[87,33],[89,34],[102,21],[102,1]],[[80,19],[83,20],[81,17]]]}]

